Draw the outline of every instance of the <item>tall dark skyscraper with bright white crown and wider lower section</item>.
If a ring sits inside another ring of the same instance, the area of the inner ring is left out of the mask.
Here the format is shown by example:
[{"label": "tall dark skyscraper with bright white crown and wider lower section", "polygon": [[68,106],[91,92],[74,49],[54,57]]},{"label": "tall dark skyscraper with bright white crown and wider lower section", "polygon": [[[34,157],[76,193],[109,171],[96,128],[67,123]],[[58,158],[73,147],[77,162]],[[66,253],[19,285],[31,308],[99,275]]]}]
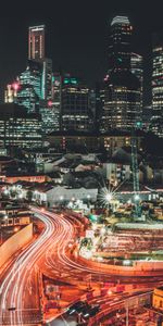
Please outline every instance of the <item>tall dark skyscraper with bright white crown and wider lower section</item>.
[{"label": "tall dark skyscraper with bright white crown and wider lower section", "polygon": [[104,78],[103,113],[100,130],[131,129],[141,120],[140,82],[130,71],[128,17],[116,16],[111,23],[109,73]]}]

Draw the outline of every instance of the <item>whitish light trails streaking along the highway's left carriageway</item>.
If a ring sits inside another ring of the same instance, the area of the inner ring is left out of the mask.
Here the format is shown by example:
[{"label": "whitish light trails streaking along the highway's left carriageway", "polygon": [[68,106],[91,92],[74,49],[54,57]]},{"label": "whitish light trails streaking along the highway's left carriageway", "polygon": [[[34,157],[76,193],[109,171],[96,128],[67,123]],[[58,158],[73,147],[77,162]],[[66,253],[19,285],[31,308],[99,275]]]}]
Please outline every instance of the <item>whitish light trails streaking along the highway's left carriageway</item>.
[{"label": "whitish light trails streaking along the highway's left carriageway", "polygon": [[[9,315],[10,325],[16,324],[16,318],[20,325],[23,325],[23,293],[26,288],[26,278],[29,271],[32,271],[35,263],[45,251],[46,241],[50,238],[54,230],[54,225],[45,215],[38,215],[45,224],[45,230],[41,236],[32,244],[14,262],[10,268],[7,277],[0,285],[0,306],[2,312],[0,315],[0,323],[3,325],[5,314]],[[48,246],[48,243],[47,243]],[[9,312],[9,308],[15,308],[15,311]]]}]

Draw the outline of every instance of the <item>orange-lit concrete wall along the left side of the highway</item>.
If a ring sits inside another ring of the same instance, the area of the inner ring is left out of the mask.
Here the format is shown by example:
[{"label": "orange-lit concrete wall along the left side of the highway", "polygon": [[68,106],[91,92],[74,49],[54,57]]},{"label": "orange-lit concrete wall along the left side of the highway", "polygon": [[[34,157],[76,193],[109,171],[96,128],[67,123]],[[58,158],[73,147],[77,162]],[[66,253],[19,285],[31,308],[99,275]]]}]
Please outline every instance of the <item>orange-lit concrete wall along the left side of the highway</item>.
[{"label": "orange-lit concrete wall along the left side of the highway", "polygon": [[0,267],[33,238],[33,224],[28,224],[0,247]]}]

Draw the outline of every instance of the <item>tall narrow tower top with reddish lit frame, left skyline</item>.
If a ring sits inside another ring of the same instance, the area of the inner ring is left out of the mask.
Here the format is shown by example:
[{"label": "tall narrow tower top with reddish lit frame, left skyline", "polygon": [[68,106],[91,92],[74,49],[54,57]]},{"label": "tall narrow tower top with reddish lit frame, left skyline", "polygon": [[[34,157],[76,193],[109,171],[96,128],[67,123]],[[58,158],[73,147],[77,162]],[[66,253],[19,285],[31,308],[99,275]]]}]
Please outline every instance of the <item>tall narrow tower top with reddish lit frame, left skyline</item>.
[{"label": "tall narrow tower top with reddish lit frame, left skyline", "polygon": [[28,59],[45,59],[45,25],[29,27],[28,30]]}]

